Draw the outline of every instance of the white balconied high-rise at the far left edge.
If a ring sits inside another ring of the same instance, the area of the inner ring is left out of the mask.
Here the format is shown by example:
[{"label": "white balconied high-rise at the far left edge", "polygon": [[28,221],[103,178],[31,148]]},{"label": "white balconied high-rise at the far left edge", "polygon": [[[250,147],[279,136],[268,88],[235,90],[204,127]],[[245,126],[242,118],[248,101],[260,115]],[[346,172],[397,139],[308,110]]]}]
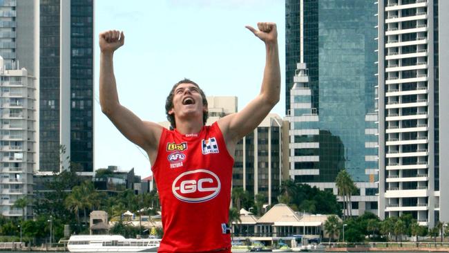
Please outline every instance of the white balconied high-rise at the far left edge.
[{"label": "white balconied high-rise at the far left edge", "polygon": [[[4,66],[0,57],[0,66]],[[31,203],[12,207],[19,198],[32,196],[35,150],[35,78],[21,70],[0,67],[0,214],[32,216]],[[28,198],[30,199],[30,198]],[[30,201],[29,201],[30,202]]]}]

